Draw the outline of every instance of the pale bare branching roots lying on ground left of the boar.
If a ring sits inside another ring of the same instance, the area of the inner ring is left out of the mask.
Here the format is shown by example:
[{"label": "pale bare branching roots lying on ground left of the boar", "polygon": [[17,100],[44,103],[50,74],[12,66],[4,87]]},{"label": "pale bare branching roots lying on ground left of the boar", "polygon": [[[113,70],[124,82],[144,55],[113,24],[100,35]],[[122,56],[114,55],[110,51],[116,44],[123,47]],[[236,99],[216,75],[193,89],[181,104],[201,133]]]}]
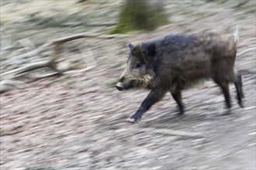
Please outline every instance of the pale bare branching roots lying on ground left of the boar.
[{"label": "pale bare branching roots lying on ground left of the boar", "polygon": [[[123,37],[125,37],[125,36],[120,36],[120,35],[104,36],[104,35],[95,34],[95,33],[81,33],[81,34],[76,34],[73,36],[62,37],[60,39],[54,39],[51,42],[47,42],[47,43],[43,44],[38,49],[34,49],[35,47],[29,41],[21,42],[23,45],[25,44],[24,46],[29,46],[29,49],[33,49],[33,51],[30,51],[29,53],[25,53],[20,56],[17,56],[17,58],[26,58],[26,57],[36,56],[39,53],[45,51],[45,49],[47,49],[50,46],[54,46],[53,55],[47,61],[40,61],[40,62],[32,63],[27,66],[23,66],[19,69],[10,70],[8,72],[0,74],[0,78],[2,80],[0,83],[0,85],[1,85],[0,93],[11,90],[12,87],[18,87],[18,88],[27,87],[26,83],[12,80],[13,77],[15,77],[21,73],[26,73],[26,72],[29,72],[32,70],[43,68],[43,67],[49,67],[50,69],[54,70],[54,73],[49,73],[49,74],[40,75],[40,76],[34,76],[33,78],[37,80],[37,79],[46,78],[46,77],[50,77],[50,76],[57,76],[57,75],[61,75],[61,74],[83,73],[87,70],[91,70],[92,68],[94,68],[96,66],[95,59],[92,59],[92,52],[90,50],[88,50],[87,51],[88,55],[82,56],[82,59],[85,61],[86,65],[87,65],[87,67],[85,69],[82,69],[82,70],[68,70],[68,69],[67,70],[58,70],[57,69],[57,59],[61,56],[61,46],[65,42],[69,42],[74,39],[81,39],[81,38],[116,39],[116,38],[123,38]],[[5,79],[8,79],[8,80],[5,80]]]}]

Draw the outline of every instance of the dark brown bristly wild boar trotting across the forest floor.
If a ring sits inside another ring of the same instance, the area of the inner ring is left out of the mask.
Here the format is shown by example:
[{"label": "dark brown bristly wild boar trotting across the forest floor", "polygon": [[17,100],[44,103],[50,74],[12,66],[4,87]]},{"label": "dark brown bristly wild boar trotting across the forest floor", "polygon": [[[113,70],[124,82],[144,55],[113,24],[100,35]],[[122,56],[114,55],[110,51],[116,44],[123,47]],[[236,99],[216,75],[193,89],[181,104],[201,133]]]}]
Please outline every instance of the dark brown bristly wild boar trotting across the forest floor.
[{"label": "dark brown bristly wild boar trotting across the forest floor", "polygon": [[230,37],[213,32],[199,32],[188,36],[168,35],[137,46],[129,44],[127,66],[116,89],[144,88],[150,90],[150,93],[127,121],[139,121],[168,91],[178,104],[179,114],[183,114],[182,90],[208,79],[220,86],[227,113],[231,107],[230,82],[234,83],[238,104],[243,107],[241,76],[234,72],[237,42],[238,29]]}]

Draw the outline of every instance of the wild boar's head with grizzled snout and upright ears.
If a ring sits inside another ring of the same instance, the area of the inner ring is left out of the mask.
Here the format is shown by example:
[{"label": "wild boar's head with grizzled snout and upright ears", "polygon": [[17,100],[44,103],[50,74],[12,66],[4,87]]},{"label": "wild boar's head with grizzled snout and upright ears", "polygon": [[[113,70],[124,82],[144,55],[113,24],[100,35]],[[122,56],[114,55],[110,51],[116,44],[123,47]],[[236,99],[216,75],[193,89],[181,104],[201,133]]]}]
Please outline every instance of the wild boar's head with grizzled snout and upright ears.
[{"label": "wild boar's head with grizzled snout and upright ears", "polygon": [[157,69],[157,53],[154,42],[141,43],[137,46],[129,44],[128,46],[130,54],[127,59],[127,66],[122,73],[119,83],[116,84],[116,89],[150,89],[154,87]]}]

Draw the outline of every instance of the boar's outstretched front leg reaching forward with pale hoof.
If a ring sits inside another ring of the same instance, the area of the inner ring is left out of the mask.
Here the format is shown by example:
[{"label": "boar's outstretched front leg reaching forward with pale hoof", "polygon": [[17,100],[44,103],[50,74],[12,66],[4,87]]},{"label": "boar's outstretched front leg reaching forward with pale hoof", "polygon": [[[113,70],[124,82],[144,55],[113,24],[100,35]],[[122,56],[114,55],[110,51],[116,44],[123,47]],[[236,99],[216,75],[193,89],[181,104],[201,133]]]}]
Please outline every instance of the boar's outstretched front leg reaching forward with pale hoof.
[{"label": "boar's outstretched front leg reaching forward with pale hoof", "polygon": [[140,105],[140,108],[137,110],[137,112],[133,114],[133,116],[131,116],[129,119],[127,119],[127,121],[129,121],[130,123],[139,121],[142,115],[147,110],[149,110],[153,104],[157,103],[157,101],[161,100],[161,98],[164,97],[165,93],[166,90],[151,90],[150,93],[147,95],[147,98]]}]

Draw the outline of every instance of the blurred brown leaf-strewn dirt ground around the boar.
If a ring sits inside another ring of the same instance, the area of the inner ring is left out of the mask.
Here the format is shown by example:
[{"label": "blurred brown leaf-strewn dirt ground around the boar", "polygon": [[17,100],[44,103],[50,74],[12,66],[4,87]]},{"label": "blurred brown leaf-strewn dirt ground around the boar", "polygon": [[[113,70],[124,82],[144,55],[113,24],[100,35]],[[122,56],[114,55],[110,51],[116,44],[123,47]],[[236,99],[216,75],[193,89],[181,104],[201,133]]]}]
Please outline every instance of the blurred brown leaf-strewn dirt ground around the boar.
[{"label": "blurred brown leaf-strewn dirt ground around the boar", "polygon": [[[111,26],[88,23],[116,22],[122,5],[121,1],[75,2],[2,0],[1,73],[49,56],[45,51],[17,58],[29,50],[20,39],[38,47],[79,32],[106,34]],[[184,116],[177,116],[175,101],[166,94],[139,123],[126,122],[148,93],[119,92],[113,87],[126,66],[128,42],[204,30],[230,36],[238,25],[237,53],[256,44],[254,0],[163,3],[170,23],[153,32],[69,42],[64,59],[81,60],[74,49],[90,49],[97,60],[92,70],[41,80],[22,77],[19,80],[28,87],[0,94],[1,169],[256,169],[255,49],[236,60],[244,83],[244,108],[238,106],[230,84],[232,114],[223,115],[223,95],[207,81],[183,92]]]}]

